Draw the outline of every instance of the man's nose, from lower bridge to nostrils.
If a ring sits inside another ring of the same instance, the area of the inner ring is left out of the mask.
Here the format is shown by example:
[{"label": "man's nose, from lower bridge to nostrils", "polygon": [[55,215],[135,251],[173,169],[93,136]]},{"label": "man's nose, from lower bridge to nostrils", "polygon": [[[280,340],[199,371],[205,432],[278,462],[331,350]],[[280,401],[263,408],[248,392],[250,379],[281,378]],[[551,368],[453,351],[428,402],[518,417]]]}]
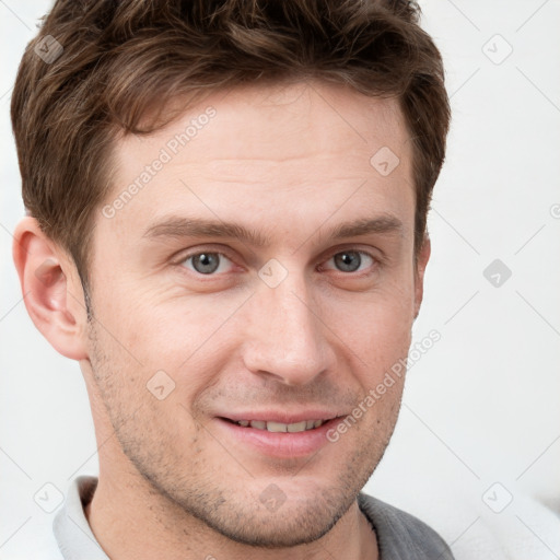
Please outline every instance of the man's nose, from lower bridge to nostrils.
[{"label": "man's nose, from lower bridge to nostrils", "polygon": [[244,329],[243,359],[248,371],[285,385],[305,385],[334,364],[334,352],[304,280],[290,273],[279,285],[260,283]]}]

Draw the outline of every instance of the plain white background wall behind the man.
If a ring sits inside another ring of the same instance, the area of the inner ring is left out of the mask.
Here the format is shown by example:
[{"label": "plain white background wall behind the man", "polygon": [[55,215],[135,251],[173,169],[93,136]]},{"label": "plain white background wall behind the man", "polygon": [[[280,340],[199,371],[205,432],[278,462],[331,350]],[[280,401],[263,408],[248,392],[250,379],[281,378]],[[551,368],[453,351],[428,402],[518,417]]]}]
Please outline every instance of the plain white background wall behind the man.
[{"label": "plain white background wall behind the man", "polygon": [[[0,2],[0,558],[50,532],[56,512],[33,499],[46,482],[66,493],[75,476],[97,474],[81,372],[34,328],[11,260],[23,215],[11,88],[48,5]],[[559,558],[526,504],[560,512],[560,2],[421,5],[445,60],[453,126],[415,340],[431,329],[442,338],[410,370],[365,490],[430,523],[457,556],[490,532]],[[500,287],[483,276],[494,259],[512,272]],[[487,505],[510,494],[502,513]]]}]

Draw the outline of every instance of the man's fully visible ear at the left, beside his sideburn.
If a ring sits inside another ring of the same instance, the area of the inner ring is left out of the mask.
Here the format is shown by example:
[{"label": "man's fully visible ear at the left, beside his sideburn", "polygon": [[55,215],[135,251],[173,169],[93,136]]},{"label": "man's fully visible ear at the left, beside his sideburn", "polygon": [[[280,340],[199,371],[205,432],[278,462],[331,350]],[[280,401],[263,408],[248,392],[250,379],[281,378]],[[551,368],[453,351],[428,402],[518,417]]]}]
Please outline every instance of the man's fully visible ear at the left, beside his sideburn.
[{"label": "man's fully visible ear at the left, beside his sideburn", "polygon": [[67,358],[86,354],[86,312],[73,259],[25,217],[16,226],[13,260],[27,313],[50,345]]}]

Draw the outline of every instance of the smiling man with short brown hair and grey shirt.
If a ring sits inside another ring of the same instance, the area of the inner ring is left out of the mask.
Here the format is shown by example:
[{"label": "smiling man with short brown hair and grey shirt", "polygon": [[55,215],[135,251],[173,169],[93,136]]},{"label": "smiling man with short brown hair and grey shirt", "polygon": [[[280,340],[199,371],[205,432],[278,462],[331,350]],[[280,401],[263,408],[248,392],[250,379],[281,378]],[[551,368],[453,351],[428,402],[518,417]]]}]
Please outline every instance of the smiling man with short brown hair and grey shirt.
[{"label": "smiling man with short brown hair and grey shirt", "polygon": [[452,558],[361,492],[450,118],[418,15],[56,2],[12,120],[25,304],[79,361],[98,444],[54,522],[63,558]]}]

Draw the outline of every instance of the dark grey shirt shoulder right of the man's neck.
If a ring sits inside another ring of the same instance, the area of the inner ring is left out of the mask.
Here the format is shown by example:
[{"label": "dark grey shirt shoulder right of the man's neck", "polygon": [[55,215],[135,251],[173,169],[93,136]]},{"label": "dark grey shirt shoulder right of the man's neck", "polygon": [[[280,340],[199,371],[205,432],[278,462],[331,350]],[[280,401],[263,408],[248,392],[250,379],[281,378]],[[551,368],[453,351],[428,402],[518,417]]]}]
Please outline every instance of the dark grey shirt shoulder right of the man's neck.
[{"label": "dark grey shirt shoulder right of the man's neck", "polygon": [[358,504],[375,529],[380,560],[453,560],[443,538],[418,517],[363,492]]}]

